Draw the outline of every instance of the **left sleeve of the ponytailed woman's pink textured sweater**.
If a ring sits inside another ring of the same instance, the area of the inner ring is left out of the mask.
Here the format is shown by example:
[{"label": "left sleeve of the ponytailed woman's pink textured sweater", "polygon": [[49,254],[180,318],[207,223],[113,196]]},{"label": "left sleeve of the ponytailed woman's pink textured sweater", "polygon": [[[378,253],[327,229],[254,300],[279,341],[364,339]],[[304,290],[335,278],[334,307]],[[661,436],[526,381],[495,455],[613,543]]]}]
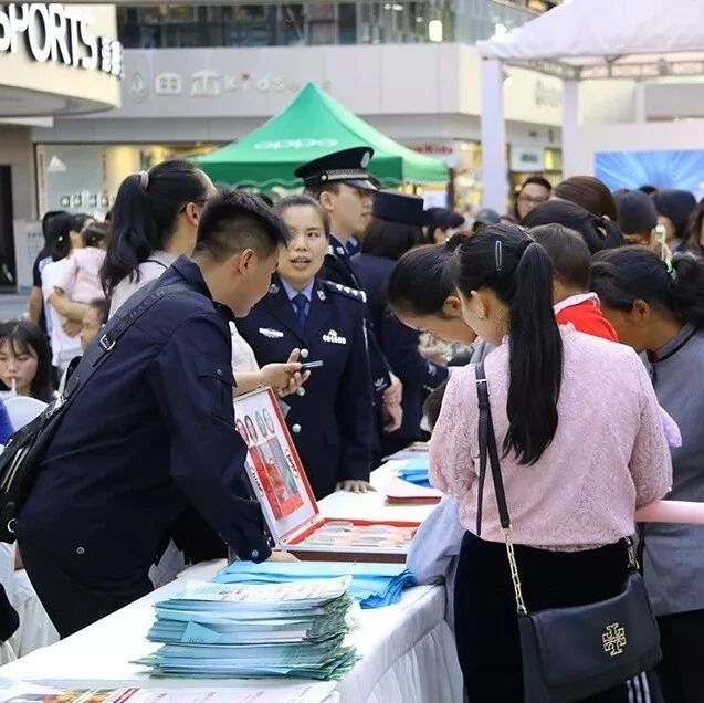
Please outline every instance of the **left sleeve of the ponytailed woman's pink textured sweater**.
[{"label": "left sleeve of the ponytailed woman's pink textured sweater", "polygon": [[430,482],[454,497],[464,497],[476,479],[473,458],[476,415],[474,365],[471,365],[450,376],[430,443]]}]

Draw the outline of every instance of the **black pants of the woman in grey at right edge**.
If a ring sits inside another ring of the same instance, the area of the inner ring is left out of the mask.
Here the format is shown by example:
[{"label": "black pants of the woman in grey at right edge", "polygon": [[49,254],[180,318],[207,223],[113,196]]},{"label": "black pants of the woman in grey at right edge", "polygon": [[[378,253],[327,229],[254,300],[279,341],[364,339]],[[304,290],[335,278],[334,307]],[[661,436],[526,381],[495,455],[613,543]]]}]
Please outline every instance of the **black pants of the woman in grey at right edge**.
[{"label": "black pants of the woman in grey at right edge", "polygon": [[658,667],[666,703],[702,703],[702,644],[704,610],[658,618],[662,661]]}]

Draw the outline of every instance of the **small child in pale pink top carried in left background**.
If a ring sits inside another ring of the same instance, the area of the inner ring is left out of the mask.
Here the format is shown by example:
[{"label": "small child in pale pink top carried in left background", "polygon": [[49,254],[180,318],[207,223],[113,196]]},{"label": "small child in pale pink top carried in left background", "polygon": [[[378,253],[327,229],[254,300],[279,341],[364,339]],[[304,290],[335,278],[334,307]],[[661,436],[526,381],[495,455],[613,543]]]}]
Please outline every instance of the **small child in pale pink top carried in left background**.
[{"label": "small child in pale pink top carried in left background", "polygon": [[105,242],[108,227],[104,222],[91,222],[82,232],[83,246],[71,252],[60,287],[75,303],[104,300],[99,272],[105,261]]}]

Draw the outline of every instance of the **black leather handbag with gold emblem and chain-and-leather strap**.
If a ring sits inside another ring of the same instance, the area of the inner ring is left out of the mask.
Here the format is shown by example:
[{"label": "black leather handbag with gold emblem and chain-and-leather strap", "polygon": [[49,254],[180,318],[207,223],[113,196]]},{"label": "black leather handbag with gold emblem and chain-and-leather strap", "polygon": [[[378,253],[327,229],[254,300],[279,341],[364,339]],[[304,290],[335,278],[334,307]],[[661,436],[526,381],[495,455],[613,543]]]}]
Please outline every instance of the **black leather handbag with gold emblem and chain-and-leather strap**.
[{"label": "black leather handbag with gold emblem and chain-and-leather strap", "polygon": [[480,482],[477,536],[486,461],[498,505],[511,567],[523,660],[525,703],[580,701],[624,683],[661,658],[660,632],[629,539],[629,568],[622,591],[598,602],[528,612],[512,541],[511,517],[501,475],[498,450],[484,365],[476,365],[479,396]]}]

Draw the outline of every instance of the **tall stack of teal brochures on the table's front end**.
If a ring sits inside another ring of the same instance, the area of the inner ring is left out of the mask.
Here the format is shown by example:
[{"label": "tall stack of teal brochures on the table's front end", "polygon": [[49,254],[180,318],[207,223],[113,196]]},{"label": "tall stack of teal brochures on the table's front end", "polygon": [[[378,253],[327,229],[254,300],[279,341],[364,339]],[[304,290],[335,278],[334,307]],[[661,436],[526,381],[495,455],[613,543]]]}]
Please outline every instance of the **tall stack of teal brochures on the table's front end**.
[{"label": "tall stack of teal brochures on the table's front end", "polygon": [[156,605],[148,638],[164,646],[138,663],[156,676],[339,679],[358,659],[344,644],[350,583],[189,584]]}]

